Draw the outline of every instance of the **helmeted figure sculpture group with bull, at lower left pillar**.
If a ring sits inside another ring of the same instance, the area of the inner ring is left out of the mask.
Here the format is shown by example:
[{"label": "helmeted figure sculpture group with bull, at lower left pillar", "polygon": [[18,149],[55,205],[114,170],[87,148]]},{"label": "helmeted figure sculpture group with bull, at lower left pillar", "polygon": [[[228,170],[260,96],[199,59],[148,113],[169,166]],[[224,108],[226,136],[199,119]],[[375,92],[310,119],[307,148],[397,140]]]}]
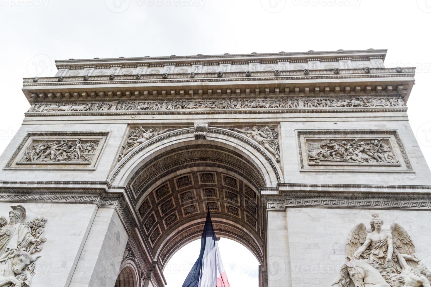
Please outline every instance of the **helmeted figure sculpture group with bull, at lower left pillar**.
[{"label": "helmeted figure sculpture group with bull, at lower left pillar", "polygon": [[25,208],[11,206],[9,223],[6,217],[0,217],[0,287],[30,286],[34,275],[35,262],[40,256],[32,253],[42,250],[44,229],[47,219],[35,217],[28,223]]}]

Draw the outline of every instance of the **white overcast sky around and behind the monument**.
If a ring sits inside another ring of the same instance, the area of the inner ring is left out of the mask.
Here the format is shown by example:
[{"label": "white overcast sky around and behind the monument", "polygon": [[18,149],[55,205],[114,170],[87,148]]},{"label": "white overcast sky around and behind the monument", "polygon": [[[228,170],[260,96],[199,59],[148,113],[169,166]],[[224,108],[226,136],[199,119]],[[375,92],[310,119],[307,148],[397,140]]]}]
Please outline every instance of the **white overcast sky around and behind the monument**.
[{"label": "white overcast sky around and behind the monument", "polygon": [[[408,114],[431,164],[431,0],[0,0],[0,27],[0,152],[29,107],[22,77],[53,76],[54,59],[375,48],[418,67]],[[225,260],[250,255],[223,241]]]}]

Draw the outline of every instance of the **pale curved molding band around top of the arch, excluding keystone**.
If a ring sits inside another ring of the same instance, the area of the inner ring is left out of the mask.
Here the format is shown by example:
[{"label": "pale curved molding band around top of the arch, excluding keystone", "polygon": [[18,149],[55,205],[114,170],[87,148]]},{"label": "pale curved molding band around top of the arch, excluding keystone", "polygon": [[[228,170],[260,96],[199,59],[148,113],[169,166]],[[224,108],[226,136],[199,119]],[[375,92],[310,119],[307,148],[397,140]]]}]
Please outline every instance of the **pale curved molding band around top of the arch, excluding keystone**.
[{"label": "pale curved molding band around top of the arch, excluding keystone", "polygon": [[[112,172],[109,182],[114,185],[127,185],[140,167],[159,156],[161,152],[196,141],[194,132],[194,128],[175,130],[144,142],[123,158]],[[229,130],[210,127],[206,140],[201,141],[199,143],[223,146],[244,154],[260,169],[266,187],[275,187],[277,183],[282,181],[280,167],[269,152],[245,136]]]}]

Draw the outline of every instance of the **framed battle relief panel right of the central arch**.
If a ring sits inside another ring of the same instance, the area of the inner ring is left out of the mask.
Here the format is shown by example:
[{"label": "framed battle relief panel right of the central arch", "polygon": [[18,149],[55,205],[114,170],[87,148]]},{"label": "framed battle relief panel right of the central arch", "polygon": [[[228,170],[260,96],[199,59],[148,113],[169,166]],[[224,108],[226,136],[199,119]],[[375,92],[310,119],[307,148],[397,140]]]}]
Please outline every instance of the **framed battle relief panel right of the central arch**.
[{"label": "framed battle relief panel right of the central arch", "polygon": [[302,171],[412,172],[397,131],[299,130]]}]

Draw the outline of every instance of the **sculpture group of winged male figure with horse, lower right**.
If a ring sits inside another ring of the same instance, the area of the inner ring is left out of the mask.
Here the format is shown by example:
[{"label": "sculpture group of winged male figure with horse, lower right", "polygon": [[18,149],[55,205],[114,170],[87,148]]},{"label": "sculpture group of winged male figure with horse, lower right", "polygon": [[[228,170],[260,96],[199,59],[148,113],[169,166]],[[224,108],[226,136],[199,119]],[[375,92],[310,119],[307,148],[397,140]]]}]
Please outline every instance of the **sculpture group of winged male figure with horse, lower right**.
[{"label": "sculpture group of winged male figure with horse, lower right", "polygon": [[415,246],[398,223],[382,230],[383,220],[372,214],[371,231],[360,223],[347,238],[347,263],[339,287],[431,287],[431,273],[415,255]]}]

